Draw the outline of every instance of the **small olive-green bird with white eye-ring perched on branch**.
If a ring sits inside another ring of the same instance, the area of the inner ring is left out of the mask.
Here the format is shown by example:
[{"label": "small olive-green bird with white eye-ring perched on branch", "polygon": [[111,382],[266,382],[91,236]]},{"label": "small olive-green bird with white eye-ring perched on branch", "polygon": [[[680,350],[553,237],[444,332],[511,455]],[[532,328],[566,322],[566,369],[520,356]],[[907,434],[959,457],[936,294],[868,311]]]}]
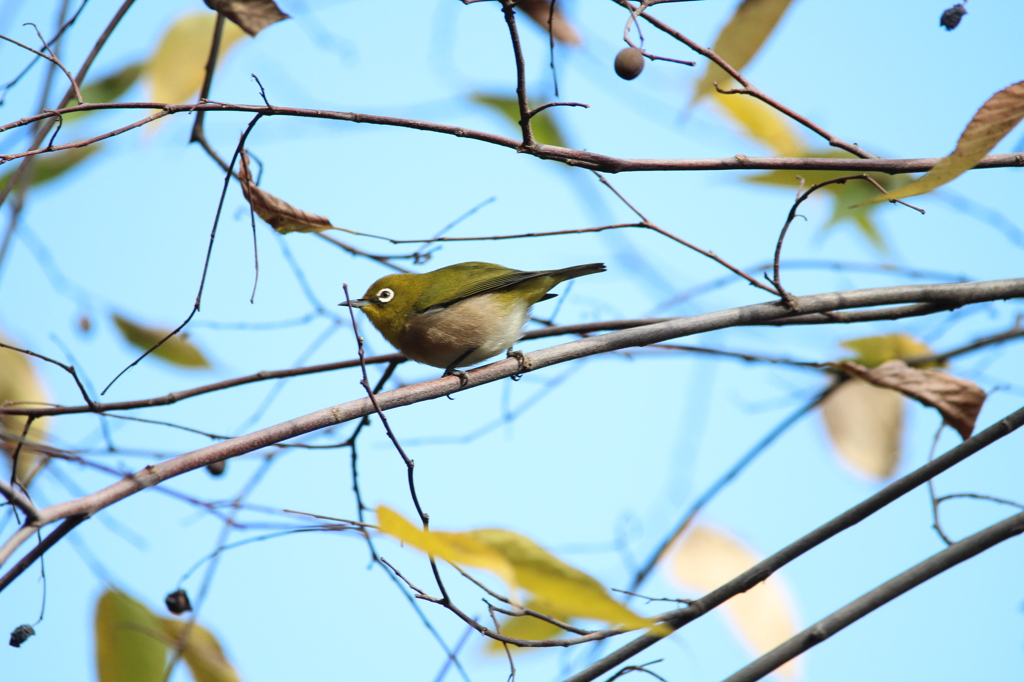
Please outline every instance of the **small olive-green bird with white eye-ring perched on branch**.
[{"label": "small olive-green bird with white eye-ring perched on branch", "polygon": [[604,263],[526,272],[493,263],[459,263],[423,274],[388,274],[348,305],[362,310],[374,327],[406,357],[444,369],[476,365],[503,350],[519,358],[512,345],[522,337],[529,308],[554,298],[560,282],[603,272]]}]

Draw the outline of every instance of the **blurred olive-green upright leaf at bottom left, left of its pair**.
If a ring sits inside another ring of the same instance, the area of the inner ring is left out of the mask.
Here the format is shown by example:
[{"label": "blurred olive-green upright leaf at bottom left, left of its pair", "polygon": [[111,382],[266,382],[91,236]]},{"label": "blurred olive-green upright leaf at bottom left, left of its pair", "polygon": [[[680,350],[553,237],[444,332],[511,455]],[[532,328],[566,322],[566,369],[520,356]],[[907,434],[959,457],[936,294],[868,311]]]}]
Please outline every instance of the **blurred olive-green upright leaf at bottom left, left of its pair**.
[{"label": "blurred olive-green upright leaf at bottom left, left of its pair", "polygon": [[99,682],[161,682],[167,645],[160,621],[145,606],[118,590],[96,603],[96,667]]}]

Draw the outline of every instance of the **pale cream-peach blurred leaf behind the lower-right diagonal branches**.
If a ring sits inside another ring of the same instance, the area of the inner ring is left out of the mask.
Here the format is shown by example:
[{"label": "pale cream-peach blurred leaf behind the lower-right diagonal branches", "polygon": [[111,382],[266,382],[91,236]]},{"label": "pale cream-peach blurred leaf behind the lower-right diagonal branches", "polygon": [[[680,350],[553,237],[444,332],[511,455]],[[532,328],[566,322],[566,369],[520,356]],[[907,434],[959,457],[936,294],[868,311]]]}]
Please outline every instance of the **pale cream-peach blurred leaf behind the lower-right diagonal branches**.
[{"label": "pale cream-peach blurred leaf behind the lower-right diagonal branches", "polygon": [[[749,569],[758,557],[736,539],[707,525],[697,525],[683,539],[669,564],[672,577],[700,592],[711,592]],[[770,576],[763,583],[725,602],[728,621],[740,639],[761,654],[782,643],[797,631],[797,617],[782,581]],[[779,673],[798,674],[796,660]]]}]

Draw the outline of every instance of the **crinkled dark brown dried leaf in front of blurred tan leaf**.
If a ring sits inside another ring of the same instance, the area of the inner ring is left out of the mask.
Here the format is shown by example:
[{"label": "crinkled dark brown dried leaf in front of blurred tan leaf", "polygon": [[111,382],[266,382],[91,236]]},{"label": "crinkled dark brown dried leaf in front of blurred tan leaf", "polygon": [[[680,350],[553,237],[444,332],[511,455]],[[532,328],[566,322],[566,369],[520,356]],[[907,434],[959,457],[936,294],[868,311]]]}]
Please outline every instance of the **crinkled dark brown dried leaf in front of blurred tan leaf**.
[{"label": "crinkled dark brown dried leaf in front of blurred tan leaf", "polygon": [[985,402],[985,391],[973,381],[940,370],[920,370],[901,359],[889,360],[873,370],[849,360],[840,363],[840,367],[876,386],[896,389],[935,408],[965,440],[974,432],[978,413]]}]

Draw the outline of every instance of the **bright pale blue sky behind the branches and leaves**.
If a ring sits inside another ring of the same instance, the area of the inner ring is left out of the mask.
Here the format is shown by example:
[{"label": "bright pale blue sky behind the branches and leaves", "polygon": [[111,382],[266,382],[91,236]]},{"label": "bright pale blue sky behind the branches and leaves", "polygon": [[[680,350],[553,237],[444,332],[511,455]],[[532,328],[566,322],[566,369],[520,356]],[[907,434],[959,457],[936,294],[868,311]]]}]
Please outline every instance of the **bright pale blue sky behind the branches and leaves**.
[{"label": "bright pale blue sky behind the branches and leaves", "polygon": [[[87,6],[66,46],[69,65],[81,61],[117,4],[94,0]],[[625,12],[611,2],[564,4],[584,45],[556,50],[560,98],[590,104],[553,113],[572,145],[630,158],[768,156],[716,110],[701,105],[685,112],[699,65],[649,63],[636,81],[622,81],[611,62],[622,45]],[[734,4],[677,3],[654,13],[710,44]],[[32,34],[22,24],[50,26],[51,5],[11,5],[0,13],[0,32],[29,40]],[[475,92],[513,91],[511,50],[496,3],[394,2],[378,11],[354,2],[281,5],[294,18],[240,43],[217,74],[212,98],[258,103],[250,77],[256,74],[275,104],[515,134],[500,116],[469,101]],[[873,153],[942,156],[985,99],[1021,80],[1024,63],[1018,35],[1024,5],[970,3],[962,26],[949,33],[938,27],[943,8],[943,3],[924,0],[849,6],[795,2],[744,73],[786,105]],[[137,3],[93,73],[105,75],[144,59],[175,17],[203,9],[198,1]],[[523,25],[528,86],[543,99],[551,95],[547,38],[525,20]],[[644,36],[653,52],[694,56],[652,29],[644,27]],[[14,48],[3,50],[0,63],[15,60]],[[18,63],[20,59],[17,55]],[[8,77],[4,68],[2,78]],[[3,122],[34,111],[38,83],[38,78],[30,79],[9,93],[0,109]],[[136,86],[126,98],[147,96]],[[95,134],[137,118],[133,112],[96,116],[69,125],[65,134],[67,139]],[[208,135],[222,154],[229,154],[248,118],[207,117]],[[114,138],[79,169],[30,195],[22,236],[0,271],[0,330],[5,335],[38,352],[73,357],[99,388],[136,354],[119,338],[110,321],[113,312],[164,327],[185,317],[195,301],[222,184],[219,169],[197,145],[185,143],[190,125],[189,118],[177,116],[156,131]],[[1017,130],[995,152],[1019,151],[1021,139]],[[0,136],[0,153],[20,150],[24,143],[23,138]],[[584,228],[633,219],[588,172],[443,135],[273,117],[259,123],[249,148],[264,164],[262,186],[268,191],[329,216],[336,225],[393,239],[434,235],[488,200],[452,235]],[[752,185],[743,174],[725,172],[635,173],[608,179],[659,226],[741,267],[770,258],[795,191]],[[831,206],[824,199],[812,200],[802,209],[806,221],[796,223],[787,238],[785,258],[884,263],[903,273],[793,268],[784,271],[787,286],[812,294],[941,281],[913,279],[906,270],[974,280],[1020,276],[1021,244],[1008,239],[985,212],[997,211],[1024,229],[1019,186],[1019,170],[977,171],[934,196],[913,200],[927,210],[925,216],[881,207],[874,215],[889,245],[886,253],[877,252],[849,224],[822,232]],[[975,208],[965,210],[964,200]],[[7,213],[3,215],[6,221]],[[338,238],[367,251],[409,250]],[[163,395],[259,370],[355,355],[347,316],[335,306],[344,298],[342,283],[361,293],[387,270],[315,237],[281,238],[262,224],[257,225],[257,243],[259,283],[250,303],[253,236],[244,200],[232,186],[202,311],[188,330],[208,351],[213,370],[186,372],[144,361],[104,398]],[[558,299],[536,309],[539,316],[548,316],[557,306],[557,322],[563,324],[645,316],[678,292],[727,273],[645,231],[449,244],[424,267],[467,260],[521,269],[607,263],[606,273],[575,281],[571,290],[563,285]],[[659,314],[696,314],[763,300],[763,292],[737,281]],[[1020,312],[1020,302],[1010,301],[856,329],[733,329],[682,342],[823,361],[844,355],[838,345],[843,340],[891,332],[913,334],[945,350],[1005,331]],[[278,324],[305,315],[309,319],[304,324]],[[83,316],[92,323],[88,334],[78,331]],[[365,321],[360,325],[371,352],[389,351]],[[556,342],[528,342],[522,348]],[[1021,406],[1024,356],[1018,345],[966,355],[950,367],[991,392],[979,418],[981,427]],[[37,369],[55,402],[80,401],[63,374],[42,365]],[[437,374],[410,364],[399,368],[397,377],[412,383]],[[362,395],[356,371],[344,371],[290,380],[276,388],[256,384],[132,416],[233,435],[356,399]],[[419,403],[388,418],[416,460],[418,491],[435,527],[510,528],[605,585],[626,587],[633,565],[671,530],[692,500],[824,384],[824,377],[806,370],[636,351],[548,368],[518,383],[489,384],[454,401]],[[502,423],[503,415],[520,406],[525,406],[521,414]],[[820,421],[814,415],[786,432],[709,506],[705,518],[766,556],[877,491],[881,483],[859,478],[838,462]],[[494,428],[479,433],[488,424]],[[927,460],[938,424],[934,411],[907,406],[897,475]],[[50,428],[59,446],[90,452],[103,446],[95,417],[65,417]],[[134,470],[153,456],[172,457],[209,442],[155,425],[112,421],[108,428],[119,452],[92,452],[92,457],[115,469]],[[308,442],[337,442],[349,431],[339,427]],[[957,441],[946,429],[938,450]],[[942,493],[1020,502],[1020,453],[1021,436],[1010,436],[943,474],[937,486]],[[230,462],[221,478],[198,471],[167,487],[203,500],[231,499],[247,486],[263,455]],[[248,502],[351,518],[355,505],[349,470],[345,450],[285,451]],[[39,504],[77,497],[67,481],[91,492],[114,480],[72,465],[61,472],[37,481],[33,493]],[[411,513],[404,466],[379,424],[361,436],[359,476],[368,505],[387,504]],[[1007,513],[1006,508],[968,501],[943,509],[947,529],[955,537]],[[780,577],[801,627],[942,549],[931,523],[927,493],[914,491],[783,568]],[[11,522],[2,527],[6,537]],[[35,639],[0,653],[5,678],[93,679],[91,614],[104,579],[90,564],[98,561],[103,576],[158,609],[182,574],[213,550],[220,528],[195,506],[155,492],[126,500],[82,525],[47,555],[46,617]],[[432,585],[421,556],[385,541],[381,547],[414,583]],[[1024,664],[1022,562],[1024,545],[1009,541],[944,573],[813,649],[803,662],[804,678],[1011,678]],[[185,587],[195,594],[200,581],[201,573]],[[454,580],[449,584],[464,610],[487,617],[479,593]],[[659,571],[643,591],[699,596]],[[34,569],[0,594],[0,625],[9,631],[34,622],[40,595]],[[450,613],[430,604],[421,608],[450,644],[464,635],[464,626]],[[219,636],[247,682],[432,680],[444,663],[406,598],[379,567],[371,566],[366,547],[352,535],[303,534],[226,552],[200,620]],[[618,641],[598,649],[519,656],[517,679],[560,679]],[[652,670],[666,679],[718,680],[745,665],[751,653],[726,621],[713,613],[633,663],[663,657]],[[484,657],[475,637],[462,658],[474,681],[507,675],[507,664]],[[178,672],[174,679],[186,675]],[[445,679],[458,678],[450,673]]]}]

